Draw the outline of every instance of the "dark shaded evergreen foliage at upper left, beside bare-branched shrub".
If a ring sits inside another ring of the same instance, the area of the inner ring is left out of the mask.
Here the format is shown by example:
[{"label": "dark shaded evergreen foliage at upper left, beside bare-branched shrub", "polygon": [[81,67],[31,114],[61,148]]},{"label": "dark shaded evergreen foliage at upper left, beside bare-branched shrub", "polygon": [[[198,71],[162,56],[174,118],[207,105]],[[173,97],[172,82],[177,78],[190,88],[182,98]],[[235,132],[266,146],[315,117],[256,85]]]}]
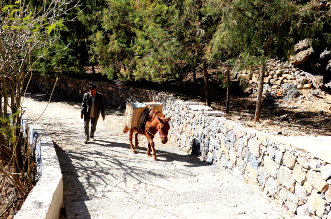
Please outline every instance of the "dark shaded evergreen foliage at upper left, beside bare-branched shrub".
[{"label": "dark shaded evergreen foliage at upper left, beside bare-branched shrub", "polygon": [[[30,7],[42,6],[44,0],[30,0]],[[35,69],[41,73],[74,72],[84,73],[83,66],[97,65],[91,48],[95,32],[101,30],[102,11],[105,0],[81,0],[80,6],[66,15],[65,19],[75,19],[65,23],[59,38],[50,48],[54,52],[38,62]]]}]

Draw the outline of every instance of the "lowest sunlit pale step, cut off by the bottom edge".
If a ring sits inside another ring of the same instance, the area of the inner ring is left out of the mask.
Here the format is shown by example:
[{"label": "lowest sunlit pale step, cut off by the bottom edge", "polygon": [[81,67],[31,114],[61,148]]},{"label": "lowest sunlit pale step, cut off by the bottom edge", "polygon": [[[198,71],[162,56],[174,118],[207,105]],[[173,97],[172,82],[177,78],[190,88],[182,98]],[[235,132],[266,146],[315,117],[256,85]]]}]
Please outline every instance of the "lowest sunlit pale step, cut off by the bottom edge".
[{"label": "lowest sunlit pale step, cut off by the bottom edge", "polygon": [[[236,203],[233,203],[236,202]],[[197,203],[187,203],[170,206],[160,206],[152,208],[141,208],[131,211],[119,212],[93,212],[86,215],[88,218],[123,218],[123,219],[154,219],[154,218],[190,218],[190,219],[219,219],[219,218],[259,218],[259,219],[279,219],[291,218],[285,213],[274,210],[272,204],[264,205],[263,208],[252,209],[245,207],[247,203],[240,202],[239,199],[213,200]],[[79,217],[78,217],[79,218]],[[83,218],[83,217],[82,217]]]}]

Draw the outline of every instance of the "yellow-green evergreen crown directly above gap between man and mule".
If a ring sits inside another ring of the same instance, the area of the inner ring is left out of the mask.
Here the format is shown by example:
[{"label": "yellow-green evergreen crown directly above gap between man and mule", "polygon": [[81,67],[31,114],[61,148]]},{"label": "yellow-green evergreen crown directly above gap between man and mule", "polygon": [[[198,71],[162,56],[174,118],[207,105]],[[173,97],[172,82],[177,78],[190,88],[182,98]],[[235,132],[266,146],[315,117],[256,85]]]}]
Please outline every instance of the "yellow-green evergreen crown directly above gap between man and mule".
[{"label": "yellow-green evergreen crown directly above gap between man and mule", "polygon": [[99,62],[102,73],[113,79],[114,75],[120,76],[121,64],[125,71],[133,56],[131,41],[135,33],[132,32],[131,16],[134,10],[129,0],[108,0],[107,4],[102,15],[102,29],[91,36],[90,53],[93,54],[91,61]]}]

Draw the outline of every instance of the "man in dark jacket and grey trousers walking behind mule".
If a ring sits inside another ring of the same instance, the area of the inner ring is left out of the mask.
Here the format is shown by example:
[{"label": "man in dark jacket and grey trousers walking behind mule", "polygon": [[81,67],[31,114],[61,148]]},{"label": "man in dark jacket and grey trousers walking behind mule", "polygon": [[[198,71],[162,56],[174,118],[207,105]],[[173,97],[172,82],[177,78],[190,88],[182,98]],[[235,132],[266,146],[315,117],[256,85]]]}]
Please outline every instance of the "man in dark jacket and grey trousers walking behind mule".
[{"label": "man in dark jacket and grey trousers walking behind mule", "polygon": [[[88,87],[90,92],[84,94],[82,107],[80,111],[80,118],[84,117],[84,130],[85,130],[85,141],[86,144],[90,138],[94,141],[94,132],[97,127],[98,118],[100,111],[102,120],[105,120],[105,104],[103,95],[97,92],[95,84],[90,84]],[[89,123],[91,121],[91,131],[89,132]]]}]

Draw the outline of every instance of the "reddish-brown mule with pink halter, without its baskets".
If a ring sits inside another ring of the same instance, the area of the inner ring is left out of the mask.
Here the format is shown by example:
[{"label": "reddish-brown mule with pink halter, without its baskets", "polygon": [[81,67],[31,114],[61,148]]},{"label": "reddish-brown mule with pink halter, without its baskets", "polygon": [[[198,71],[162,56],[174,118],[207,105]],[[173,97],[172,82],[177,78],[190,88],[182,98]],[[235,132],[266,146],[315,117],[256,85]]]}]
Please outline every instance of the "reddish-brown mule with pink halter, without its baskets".
[{"label": "reddish-brown mule with pink halter, without its baskets", "polygon": [[[153,138],[157,132],[159,132],[159,135],[161,137],[162,144],[166,144],[168,141],[168,131],[169,131],[169,120],[170,117],[165,117],[162,112],[151,109],[149,111],[148,116],[146,116],[144,121],[144,126],[141,130],[138,128],[128,128],[125,124],[123,133],[127,133],[129,131],[129,141],[130,141],[130,148],[132,153],[136,153],[134,150],[138,147],[138,134],[145,135],[148,140],[148,148],[147,148],[147,155],[148,157],[151,157],[151,148],[152,148],[152,154],[153,159],[157,160],[155,149],[154,149],[154,142]],[[132,135],[134,133],[134,147],[132,145]]]}]

